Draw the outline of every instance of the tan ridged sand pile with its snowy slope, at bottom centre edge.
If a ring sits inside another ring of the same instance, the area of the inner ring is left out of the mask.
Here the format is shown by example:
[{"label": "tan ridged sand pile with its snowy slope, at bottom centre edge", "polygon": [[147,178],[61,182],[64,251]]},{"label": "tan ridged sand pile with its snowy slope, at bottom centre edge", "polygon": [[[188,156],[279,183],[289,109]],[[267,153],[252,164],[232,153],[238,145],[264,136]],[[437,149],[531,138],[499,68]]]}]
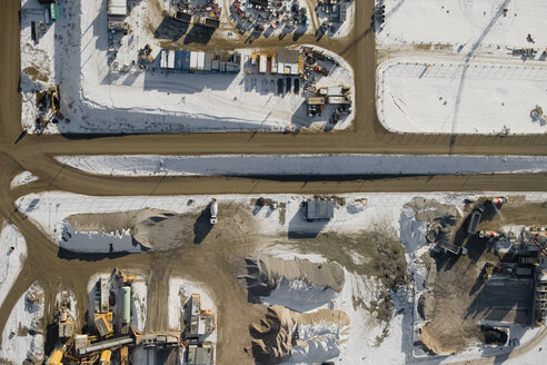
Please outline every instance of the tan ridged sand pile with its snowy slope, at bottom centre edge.
[{"label": "tan ridged sand pile with its snowy slope, at bottom centre edge", "polygon": [[349,317],[341,310],[297,313],[272,306],[250,326],[250,352],[258,364],[279,364],[289,357],[332,358],[340,353],[348,325]]}]

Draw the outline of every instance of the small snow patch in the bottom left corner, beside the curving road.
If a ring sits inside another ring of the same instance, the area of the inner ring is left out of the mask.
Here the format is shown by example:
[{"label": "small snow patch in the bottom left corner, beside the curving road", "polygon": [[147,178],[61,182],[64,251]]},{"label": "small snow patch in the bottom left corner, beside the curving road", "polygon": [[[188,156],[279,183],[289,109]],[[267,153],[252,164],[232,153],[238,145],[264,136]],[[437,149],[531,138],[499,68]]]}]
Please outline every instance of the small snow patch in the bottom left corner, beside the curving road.
[{"label": "small snow patch in the bottom left corner, beside the curving road", "polygon": [[16,303],[3,327],[0,363],[24,364],[28,358],[31,364],[41,364],[43,307],[43,289],[34,283]]}]

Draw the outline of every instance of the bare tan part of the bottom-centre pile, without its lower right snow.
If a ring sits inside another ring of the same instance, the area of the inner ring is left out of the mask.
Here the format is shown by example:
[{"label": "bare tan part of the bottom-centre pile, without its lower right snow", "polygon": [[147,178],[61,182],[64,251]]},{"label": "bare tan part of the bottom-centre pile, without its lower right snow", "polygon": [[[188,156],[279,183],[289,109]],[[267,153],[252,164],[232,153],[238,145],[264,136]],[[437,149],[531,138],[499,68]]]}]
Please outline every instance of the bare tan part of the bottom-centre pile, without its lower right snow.
[{"label": "bare tan part of the bottom-centre pile, without its lower right snow", "polygon": [[[329,333],[324,328],[325,324],[330,324],[337,329]],[[321,326],[320,335],[309,336],[309,333],[312,333],[309,327],[314,325]],[[257,364],[279,364],[287,361],[296,347],[310,348],[312,347],[309,346],[310,343],[320,343],[322,337],[334,338],[335,341],[329,343],[334,343],[337,347],[339,341],[337,334],[344,332],[340,329],[348,325],[348,315],[340,310],[319,309],[314,313],[297,313],[281,306],[272,306],[268,308],[265,318],[249,327],[253,337],[250,353]]]}]

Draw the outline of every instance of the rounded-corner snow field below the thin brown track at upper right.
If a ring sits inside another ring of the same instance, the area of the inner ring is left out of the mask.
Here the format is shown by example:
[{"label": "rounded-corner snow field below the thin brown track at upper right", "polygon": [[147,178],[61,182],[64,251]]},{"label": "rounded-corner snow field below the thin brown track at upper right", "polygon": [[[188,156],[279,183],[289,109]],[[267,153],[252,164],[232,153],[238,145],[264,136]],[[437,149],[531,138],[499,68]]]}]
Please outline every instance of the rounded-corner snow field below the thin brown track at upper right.
[{"label": "rounded-corner snow field below the thin brown track at upper right", "polygon": [[534,110],[547,108],[546,85],[547,67],[384,62],[378,118],[401,132],[543,134],[547,109]]}]

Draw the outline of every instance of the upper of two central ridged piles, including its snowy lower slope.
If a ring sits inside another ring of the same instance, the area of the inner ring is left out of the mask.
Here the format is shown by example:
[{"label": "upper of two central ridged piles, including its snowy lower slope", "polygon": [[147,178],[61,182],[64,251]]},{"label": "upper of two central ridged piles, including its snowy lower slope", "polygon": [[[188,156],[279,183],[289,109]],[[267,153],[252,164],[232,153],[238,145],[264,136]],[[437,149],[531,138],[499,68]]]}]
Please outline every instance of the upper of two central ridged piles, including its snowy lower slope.
[{"label": "upper of two central ridged piles, including its snowy lower slope", "polygon": [[243,276],[249,294],[267,297],[270,304],[280,304],[305,312],[334,299],[344,286],[344,269],[337,263],[311,263],[296,258],[287,260],[271,256],[246,259]]}]

